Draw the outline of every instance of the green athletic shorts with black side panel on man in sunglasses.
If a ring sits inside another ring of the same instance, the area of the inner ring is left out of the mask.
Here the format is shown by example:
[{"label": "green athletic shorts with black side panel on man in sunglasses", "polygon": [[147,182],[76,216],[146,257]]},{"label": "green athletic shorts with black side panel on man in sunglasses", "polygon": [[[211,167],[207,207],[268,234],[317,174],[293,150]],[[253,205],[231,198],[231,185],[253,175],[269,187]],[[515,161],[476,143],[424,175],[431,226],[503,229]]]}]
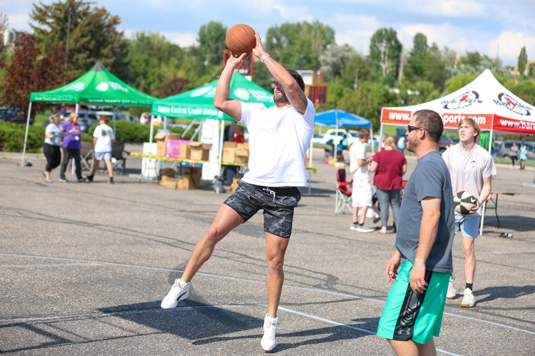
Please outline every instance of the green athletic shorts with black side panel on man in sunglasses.
[{"label": "green athletic shorts with black side panel on man in sunglasses", "polygon": [[425,271],[427,290],[415,293],[410,288],[412,263],[401,266],[388,297],[377,336],[394,340],[413,340],[425,344],[439,336],[450,273]]}]

